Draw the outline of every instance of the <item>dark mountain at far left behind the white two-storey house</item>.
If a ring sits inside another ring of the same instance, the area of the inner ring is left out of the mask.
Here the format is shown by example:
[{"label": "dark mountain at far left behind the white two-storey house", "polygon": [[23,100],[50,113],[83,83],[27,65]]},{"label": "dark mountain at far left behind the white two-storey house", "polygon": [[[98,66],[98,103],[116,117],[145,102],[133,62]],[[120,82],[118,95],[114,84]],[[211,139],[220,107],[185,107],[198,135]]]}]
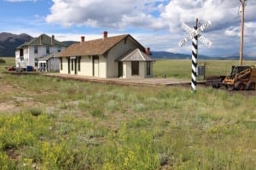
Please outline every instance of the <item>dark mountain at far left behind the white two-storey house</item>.
[{"label": "dark mountain at far left behind the white two-storey house", "polygon": [[32,38],[25,33],[20,35],[8,32],[0,33],[0,56],[15,56],[15,48],[24,42],[32,40]]}]

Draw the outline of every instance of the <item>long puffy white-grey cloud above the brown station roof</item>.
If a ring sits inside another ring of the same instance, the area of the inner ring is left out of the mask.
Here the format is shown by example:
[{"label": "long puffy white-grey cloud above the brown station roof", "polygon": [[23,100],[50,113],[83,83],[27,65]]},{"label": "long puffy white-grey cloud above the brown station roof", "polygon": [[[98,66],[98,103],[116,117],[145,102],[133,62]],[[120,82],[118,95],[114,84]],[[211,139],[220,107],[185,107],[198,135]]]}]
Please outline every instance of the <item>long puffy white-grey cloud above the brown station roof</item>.
[{"label": "long puffy white-grey cloud above the brown station roof", "polygon": [[[62,26],[112,27],[137,26],[160,29],[164,22],[151,12],[157,11],[164,0],[53,0],[51,14],[46,17],[49,23]],[[155,7],[154,4],[158,3]],[[160,23],[160,24],[158,24]]]}]

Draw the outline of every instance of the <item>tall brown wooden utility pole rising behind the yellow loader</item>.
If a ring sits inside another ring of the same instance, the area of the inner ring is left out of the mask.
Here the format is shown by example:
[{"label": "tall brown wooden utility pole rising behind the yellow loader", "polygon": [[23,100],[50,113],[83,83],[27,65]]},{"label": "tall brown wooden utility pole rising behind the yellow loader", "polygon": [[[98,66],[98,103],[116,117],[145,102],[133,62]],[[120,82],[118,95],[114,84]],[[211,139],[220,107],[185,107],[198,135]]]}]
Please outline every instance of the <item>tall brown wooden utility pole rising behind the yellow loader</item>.
[{"label": "tall brown wooden utility pole rising behind the yellow loader", "polygon": [[242,65],[243,58],[243,36],[244,36],[244,8],[246,0],[240,0],[241,2],[241,41],[240,41],[240,65]]}]

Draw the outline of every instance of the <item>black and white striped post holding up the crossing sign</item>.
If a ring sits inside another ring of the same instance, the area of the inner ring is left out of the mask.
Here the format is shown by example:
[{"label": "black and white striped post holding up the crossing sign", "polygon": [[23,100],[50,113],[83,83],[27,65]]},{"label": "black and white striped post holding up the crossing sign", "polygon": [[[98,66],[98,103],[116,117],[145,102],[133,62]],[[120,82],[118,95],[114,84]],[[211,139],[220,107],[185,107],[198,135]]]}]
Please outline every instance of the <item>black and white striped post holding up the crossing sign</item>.
[{"label": "black and white striped post holding up the crossing sign", "polygon": [[[194,31],[197,30],[198,19],[195,20]],[[191,72],[191,88],[196,93],[197,82],[197,54],[198,54],[198,38],[197,35],[192,39],[192,72]]]}]

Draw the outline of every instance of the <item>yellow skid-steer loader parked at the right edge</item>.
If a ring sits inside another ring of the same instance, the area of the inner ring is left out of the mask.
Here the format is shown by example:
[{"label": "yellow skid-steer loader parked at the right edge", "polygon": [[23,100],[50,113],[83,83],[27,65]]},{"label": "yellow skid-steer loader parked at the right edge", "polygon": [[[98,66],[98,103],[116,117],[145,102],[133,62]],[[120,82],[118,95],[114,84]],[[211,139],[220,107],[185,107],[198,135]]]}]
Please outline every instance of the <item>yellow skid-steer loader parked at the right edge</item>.
[{"label": "yellow skid-steer loader parked at the right edge", "polygon": [[255,66],[232,66],[232,71],[222,81],[225,88],[254,90],[256,83]]}]

